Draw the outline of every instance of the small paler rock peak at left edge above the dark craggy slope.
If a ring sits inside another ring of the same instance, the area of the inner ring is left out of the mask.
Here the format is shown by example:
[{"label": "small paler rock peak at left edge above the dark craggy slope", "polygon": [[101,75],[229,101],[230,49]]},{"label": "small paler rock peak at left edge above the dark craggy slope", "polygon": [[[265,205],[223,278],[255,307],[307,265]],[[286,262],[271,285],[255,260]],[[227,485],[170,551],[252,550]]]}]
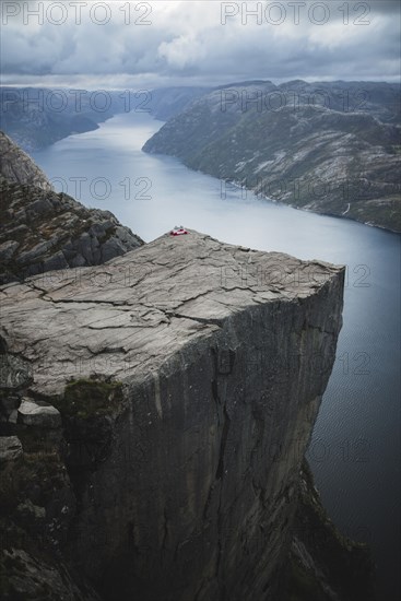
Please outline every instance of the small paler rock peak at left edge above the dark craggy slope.
[{"label": "small paler rock peak at left edge above the dark craggy slope", "polygon": [[31,156],[0,131],[0,177],[12,184],[35,186],[52,191],[52,186]]}]

